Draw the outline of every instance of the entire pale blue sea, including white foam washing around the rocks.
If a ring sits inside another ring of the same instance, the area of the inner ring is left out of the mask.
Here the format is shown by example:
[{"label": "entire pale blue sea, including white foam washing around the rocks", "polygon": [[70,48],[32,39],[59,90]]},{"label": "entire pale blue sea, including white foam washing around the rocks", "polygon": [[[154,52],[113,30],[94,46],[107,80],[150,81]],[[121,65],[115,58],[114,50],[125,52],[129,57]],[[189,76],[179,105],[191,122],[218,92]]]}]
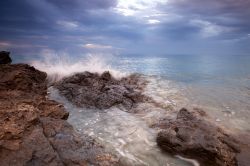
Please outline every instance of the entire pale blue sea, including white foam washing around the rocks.
[{"label": "entire pale blue sea, including white foam washing around the rocks", "polygon": [[[138,73],[148,80],[145,94],[178,111],[182,107],[204,110],[212,123],[230,132],[250,132],[250,55],[44,55],[16,58],[45,71],[50,81],[76,72],[109,70],[120,79]],[[51,87],[50,98],[64,104],[68,119],[79,134],[93,137],[119,154],[124,165],[197,166],[181,156],[171,156],[156,145],[155,129],[148,122],[167,114],[154,107],[136,115],[119,108],[78,108]],[[162,113],[163,112],[163,113]]]}]

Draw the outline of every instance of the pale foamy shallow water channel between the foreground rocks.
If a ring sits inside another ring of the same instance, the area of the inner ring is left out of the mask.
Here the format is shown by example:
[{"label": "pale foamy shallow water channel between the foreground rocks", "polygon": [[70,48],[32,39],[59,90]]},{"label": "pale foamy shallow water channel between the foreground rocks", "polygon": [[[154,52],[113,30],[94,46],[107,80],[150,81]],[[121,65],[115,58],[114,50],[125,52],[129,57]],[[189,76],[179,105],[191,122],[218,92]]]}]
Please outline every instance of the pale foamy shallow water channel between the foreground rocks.
[{"label": "pale foamy shallow water channel between the foreground rocks", "polygon": [[[120,157],[125,165],[191,166],[178,157],[163,153],[156,145],[157,131],[148,126],[160,111],[136,115],[118,107],[108,110],[77,108],[50,88],[50,98],[63,103],[70,112],[69,123],[79,134],[95,138],[108,150]],[[159,115],[160,116],[160,115]],[[152,118],[153,117],[153,118]]]}]

